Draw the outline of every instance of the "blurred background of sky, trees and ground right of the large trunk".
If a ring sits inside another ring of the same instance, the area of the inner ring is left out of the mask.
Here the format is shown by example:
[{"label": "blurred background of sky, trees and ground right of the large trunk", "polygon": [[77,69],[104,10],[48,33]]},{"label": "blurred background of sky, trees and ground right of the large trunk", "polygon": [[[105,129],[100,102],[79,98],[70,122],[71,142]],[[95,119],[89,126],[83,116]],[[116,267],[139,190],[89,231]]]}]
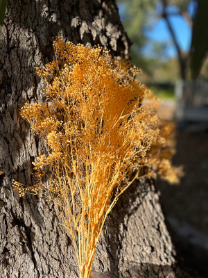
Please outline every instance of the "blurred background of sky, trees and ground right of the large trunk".
[{"label": "blurred background of sky, trees and ground right of the large trunk", "polygon": [[[208,277],[208,1],[117,0],[132,63],[175,121],[179,185],[157,180],[179,263]],[[198,273],[198,274],[197,274]]]}]

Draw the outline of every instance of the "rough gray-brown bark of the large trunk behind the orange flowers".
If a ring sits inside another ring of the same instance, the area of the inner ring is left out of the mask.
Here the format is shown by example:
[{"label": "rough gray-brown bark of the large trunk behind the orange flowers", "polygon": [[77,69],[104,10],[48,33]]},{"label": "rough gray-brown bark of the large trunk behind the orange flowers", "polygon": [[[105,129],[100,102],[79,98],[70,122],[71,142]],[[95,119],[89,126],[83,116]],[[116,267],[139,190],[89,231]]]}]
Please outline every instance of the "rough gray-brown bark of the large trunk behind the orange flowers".
[{"label": "rough gray-brown bark of the large trunk behind the orange flowers", "polygon": [[[31,162],[45,151],[19,109],[26,101],[44,101],[35,67],[53,60],[57,35],[128,58],[130,40],[114,0],[8,0],[0,33],[0,278],[78,277],[71,239],[53,204],[33,195],[20,198],[12,189],[12,179],[33,183]],[[189,277],[174,265],[154,183],[137,181],[107,218],[92,278]]]}]

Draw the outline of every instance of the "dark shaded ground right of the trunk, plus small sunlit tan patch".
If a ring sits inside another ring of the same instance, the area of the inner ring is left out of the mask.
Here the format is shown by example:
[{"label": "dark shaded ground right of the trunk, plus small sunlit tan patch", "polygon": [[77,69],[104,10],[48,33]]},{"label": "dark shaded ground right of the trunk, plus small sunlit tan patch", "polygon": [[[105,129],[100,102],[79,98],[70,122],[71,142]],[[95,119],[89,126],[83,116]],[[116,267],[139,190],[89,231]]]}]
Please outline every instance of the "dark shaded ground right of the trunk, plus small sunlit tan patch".
[{"label": "dark shaded ground right of the trunk, plus small sunlit tan patch", "polygon": [[[174,100],[163,101],[159,116],[174,118]],[[178,186],[157,181],[180,263],[208,277],[208,130],[200,124],[177,128],[174,165],[184,165]],[[208,124],[207,124],[208,126]]]}]

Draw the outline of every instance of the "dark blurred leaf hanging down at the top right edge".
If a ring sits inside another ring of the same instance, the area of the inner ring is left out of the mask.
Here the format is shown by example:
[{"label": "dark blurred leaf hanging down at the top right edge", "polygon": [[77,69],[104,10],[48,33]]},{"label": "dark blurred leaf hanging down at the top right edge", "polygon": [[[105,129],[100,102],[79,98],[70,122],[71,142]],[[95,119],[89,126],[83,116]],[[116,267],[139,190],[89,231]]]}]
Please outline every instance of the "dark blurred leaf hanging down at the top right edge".
[{"label": "dark blurred leaf hanging down at the top right edge", "polygon": [[198,11],[193,21],[191,41],[191,78],[200,74],[203,60],[208,51],[208,2],[198,0]]}]

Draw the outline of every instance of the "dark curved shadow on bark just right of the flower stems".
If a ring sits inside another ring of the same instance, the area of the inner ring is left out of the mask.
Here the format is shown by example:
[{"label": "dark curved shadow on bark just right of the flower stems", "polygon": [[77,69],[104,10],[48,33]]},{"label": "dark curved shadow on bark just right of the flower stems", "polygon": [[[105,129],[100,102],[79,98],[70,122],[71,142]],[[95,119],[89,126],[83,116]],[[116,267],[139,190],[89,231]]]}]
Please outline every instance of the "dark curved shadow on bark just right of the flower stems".
[{"label": "dark curved shadow on bark just right of the flower stems", "polygon": [[[119,275],[121,275],[119,268],[121,268],[122,243],[128,233],[130,216],[137,212],[139,206],[150,191],[155,191],[153,179],[136,180],[119,197],[116,206],[107,218],[103,235],[110,261],[110,273],[114,275],[112,277],[120,277]],[[135,236],[139,235],[135,234]],[[128,250],[126,252],[128,253]],[[126,256],[128,261],[128,254]]]}]

